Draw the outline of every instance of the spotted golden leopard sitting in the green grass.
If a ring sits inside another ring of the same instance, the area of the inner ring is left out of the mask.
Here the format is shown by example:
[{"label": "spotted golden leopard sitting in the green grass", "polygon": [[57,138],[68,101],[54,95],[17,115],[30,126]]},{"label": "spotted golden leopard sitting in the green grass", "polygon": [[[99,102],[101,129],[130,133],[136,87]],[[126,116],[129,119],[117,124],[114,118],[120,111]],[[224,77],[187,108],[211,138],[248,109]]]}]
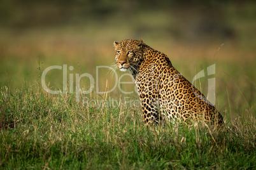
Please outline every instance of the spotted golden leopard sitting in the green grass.
[{"label": "spotted golden leopard sitting in the green grass", "polygon": [[171,60],[143,39],[114,42],[117,68],[131,72],[146,125],[204,122],[222,126],[223,117],[210,101],[176,70]]}]

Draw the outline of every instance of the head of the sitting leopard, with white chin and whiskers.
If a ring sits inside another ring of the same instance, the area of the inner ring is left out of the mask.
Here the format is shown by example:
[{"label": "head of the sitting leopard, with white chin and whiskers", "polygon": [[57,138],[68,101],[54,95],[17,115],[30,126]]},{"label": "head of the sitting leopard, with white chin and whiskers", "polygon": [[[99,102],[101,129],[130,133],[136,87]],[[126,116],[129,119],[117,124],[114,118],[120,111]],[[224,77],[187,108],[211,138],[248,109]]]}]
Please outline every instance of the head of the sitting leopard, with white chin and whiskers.
[{"label": "head of the sitting leopard, with white chin and whiskers", "polygon": [[138,68],[143,57],[143,39],[126,39],[121,42],[114,42],[115,60],[117,67],[122,72],[127,69]]}]

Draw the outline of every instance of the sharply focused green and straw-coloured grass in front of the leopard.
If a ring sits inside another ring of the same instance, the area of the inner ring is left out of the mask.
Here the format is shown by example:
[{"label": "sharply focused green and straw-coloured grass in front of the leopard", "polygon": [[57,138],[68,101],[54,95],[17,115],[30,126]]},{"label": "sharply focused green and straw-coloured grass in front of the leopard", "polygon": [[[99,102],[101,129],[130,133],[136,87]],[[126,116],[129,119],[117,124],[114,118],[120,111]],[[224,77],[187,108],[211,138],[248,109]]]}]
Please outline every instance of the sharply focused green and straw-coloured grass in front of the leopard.
[{"label": "sharply focused green and straw-coloured grass in front of the leopard", "polygon": [[[91,100],[108,96],[91,95]],[[1,89],[1,169],[254,169],[255,115],[224,128],[143,125],[140,108]],[[255,108],[251,108],[255,114]]]}]

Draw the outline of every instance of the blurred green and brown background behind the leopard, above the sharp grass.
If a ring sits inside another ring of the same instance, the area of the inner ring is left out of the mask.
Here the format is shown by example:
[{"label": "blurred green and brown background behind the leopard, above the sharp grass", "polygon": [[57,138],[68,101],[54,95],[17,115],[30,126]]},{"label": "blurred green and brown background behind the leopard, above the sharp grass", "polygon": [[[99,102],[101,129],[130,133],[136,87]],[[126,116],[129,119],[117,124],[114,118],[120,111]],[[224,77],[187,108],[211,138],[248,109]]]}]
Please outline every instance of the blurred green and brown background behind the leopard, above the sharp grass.
[{"label": "blurred green and brown background behind the leopard, above the sharp grass", "polygon": [[[240,114],[255,107],[253,1],[2,0],[0,20],[1,87],[40,86],[41,72],[52,65],[67,64],[74,67],[68,74],[89,73],[96,79],[96,66],[115,63],[113,41],[142,38],[169,56],[189,81],[216,64],[210,78],[216,78],[220,112]],[[99,71],[100,91],[106,80],[113,87],[115,79],[107,72]],[[208,78],[197,82],[204,94]],[[61,89],[62,70],[49,72],[46,83]],[[85,89],[89,84],[84,78]],[[134,85],[122,88],[128,91]]]}]

